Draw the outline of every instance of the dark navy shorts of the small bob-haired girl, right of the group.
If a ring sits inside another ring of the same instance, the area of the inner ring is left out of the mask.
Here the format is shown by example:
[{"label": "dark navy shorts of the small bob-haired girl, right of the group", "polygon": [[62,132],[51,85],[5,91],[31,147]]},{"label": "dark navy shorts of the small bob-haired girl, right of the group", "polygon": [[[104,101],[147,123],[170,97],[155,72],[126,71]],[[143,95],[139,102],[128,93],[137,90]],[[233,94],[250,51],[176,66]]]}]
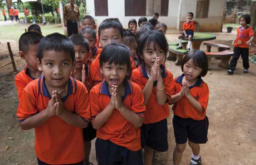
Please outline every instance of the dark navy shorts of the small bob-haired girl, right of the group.
[{"label": "dark navy shorts of the small bob-haired girl, right of the group", "polygon": [[172,123],[177,144],[184,144],[188,139],[197,144],[204,144],[208,141],[209,120],[207,116],[203,120],[194,120],[174,115]]}]

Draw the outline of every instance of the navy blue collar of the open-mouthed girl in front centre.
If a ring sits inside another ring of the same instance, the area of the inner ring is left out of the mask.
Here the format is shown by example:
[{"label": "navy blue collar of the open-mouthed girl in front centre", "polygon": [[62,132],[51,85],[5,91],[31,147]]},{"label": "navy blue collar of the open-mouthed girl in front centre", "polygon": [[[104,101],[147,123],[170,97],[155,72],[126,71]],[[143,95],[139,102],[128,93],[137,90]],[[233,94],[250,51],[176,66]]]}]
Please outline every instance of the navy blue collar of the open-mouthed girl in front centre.
[{"label": "navy blue collar of the open-mouthed girl in front centre", "polygon": [[[122,101],[125,100],[127,94],[131,94],[132,93],[131,83],[128,80],[126,80],[126,79],[124,79],[124,83],[125,83],[125,94],[122,96]],[[108,90],[108,83],[106,82],[106,80],[104,80],[101,83],[100,91],[99,92],[101,94],[107,94],[111,98],[111,94],[109,93],[109,90]]]}]

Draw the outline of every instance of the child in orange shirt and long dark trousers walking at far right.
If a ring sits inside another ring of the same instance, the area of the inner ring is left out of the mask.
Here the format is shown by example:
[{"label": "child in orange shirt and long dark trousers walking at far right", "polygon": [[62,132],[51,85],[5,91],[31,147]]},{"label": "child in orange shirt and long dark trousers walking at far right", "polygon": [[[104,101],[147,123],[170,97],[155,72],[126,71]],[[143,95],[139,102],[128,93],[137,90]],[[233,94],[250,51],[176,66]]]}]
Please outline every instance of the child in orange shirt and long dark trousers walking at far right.
[{"label": "child in orange shirt and long dark trousers walking at far right", "polygon": [[249,45],[254,39],[254,31],[248,26],[251,22],[251,17],[249,15],[244,15],[240,18],[241,27],[237,28],[237,37],[233,41],[234,55],[229,64],[229,70],[227,73],[229,75],[234,74],[236,68],[237,60],[240,55],[243,59],[243,73],[248,73],[249,68]]}]

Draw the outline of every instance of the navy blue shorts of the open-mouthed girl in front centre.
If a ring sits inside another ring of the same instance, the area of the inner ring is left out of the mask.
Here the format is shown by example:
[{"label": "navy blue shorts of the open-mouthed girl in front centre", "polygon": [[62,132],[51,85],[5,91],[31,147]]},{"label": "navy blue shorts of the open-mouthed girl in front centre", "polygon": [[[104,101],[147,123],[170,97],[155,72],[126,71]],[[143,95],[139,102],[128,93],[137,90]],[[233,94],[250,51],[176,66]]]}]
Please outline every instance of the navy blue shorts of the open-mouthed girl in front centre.
[{"label": "navy blue shorts of the open-mouthed girl in front centre", "polygon": [[98,165],[143,165],[143,151],[131,151],[109,140],[96,139],[96,158]]}]

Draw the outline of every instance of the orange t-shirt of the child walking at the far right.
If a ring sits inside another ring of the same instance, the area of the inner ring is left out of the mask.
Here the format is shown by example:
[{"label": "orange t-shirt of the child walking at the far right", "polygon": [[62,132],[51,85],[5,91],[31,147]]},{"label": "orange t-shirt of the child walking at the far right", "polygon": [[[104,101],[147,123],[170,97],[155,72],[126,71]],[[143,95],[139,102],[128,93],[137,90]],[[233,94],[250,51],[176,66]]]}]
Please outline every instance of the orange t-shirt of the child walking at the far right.
[{"label": "orange t-shirt of the child walking at the far right", "polygon": [[[235,40],[235,47],[239,48],[249,48],[249,45],[246,45],[246,42],[250,40],[250,37],[254,36],[254,31],[251,27],[247,26],[242,29],[242,27],[237,28],[237,37]],[[238,41],[241,40],[241,44],[238,44]]]}]

